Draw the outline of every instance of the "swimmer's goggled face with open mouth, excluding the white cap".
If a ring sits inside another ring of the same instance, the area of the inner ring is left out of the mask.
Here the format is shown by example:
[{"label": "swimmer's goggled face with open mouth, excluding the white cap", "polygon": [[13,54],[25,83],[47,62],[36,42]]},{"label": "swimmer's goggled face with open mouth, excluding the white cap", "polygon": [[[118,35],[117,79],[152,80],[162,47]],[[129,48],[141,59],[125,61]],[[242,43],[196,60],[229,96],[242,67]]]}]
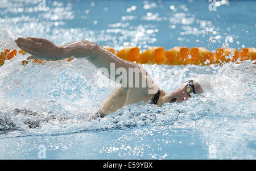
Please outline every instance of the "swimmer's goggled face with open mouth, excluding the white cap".
[{"label": "swimmer's goggled face with open mouth, excluding the white cap", "polygon": [[173,103],[186,101],[191,97],[189,94],[192,94],[193,90],[195,91],[195,94],[203,93],[201,86],[196,81],[184,82],[168,95],[168,102]]}]

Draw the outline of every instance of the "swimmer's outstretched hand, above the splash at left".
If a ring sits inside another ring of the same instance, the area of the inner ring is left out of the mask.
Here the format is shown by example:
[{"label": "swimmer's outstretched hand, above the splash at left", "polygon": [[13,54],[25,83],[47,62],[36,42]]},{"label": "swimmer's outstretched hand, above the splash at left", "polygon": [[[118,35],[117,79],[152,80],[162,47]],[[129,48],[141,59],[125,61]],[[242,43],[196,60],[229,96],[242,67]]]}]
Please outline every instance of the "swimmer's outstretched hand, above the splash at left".
[{"label": "swimmer's outstretched hand, above the splash at left", "polygon": [[36,37],[18,37],[15,40],[17,46],[30,53],[29,59],[61,60],[64,57],[64,49],[51,41]]}]

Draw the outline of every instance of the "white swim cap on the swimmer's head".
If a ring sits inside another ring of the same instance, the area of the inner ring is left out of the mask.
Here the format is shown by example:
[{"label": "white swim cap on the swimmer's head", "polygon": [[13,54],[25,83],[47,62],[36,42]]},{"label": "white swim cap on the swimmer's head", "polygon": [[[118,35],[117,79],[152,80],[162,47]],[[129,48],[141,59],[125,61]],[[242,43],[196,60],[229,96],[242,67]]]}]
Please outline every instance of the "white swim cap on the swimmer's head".
[{"label": "white swim cap on the swimmer's head", "polygon": [[201,86],[203,91],[213,90],[211,85],[212,77],[210,75],[199,74],[199,76],[192,78],[192,80],[196,81]]}]

